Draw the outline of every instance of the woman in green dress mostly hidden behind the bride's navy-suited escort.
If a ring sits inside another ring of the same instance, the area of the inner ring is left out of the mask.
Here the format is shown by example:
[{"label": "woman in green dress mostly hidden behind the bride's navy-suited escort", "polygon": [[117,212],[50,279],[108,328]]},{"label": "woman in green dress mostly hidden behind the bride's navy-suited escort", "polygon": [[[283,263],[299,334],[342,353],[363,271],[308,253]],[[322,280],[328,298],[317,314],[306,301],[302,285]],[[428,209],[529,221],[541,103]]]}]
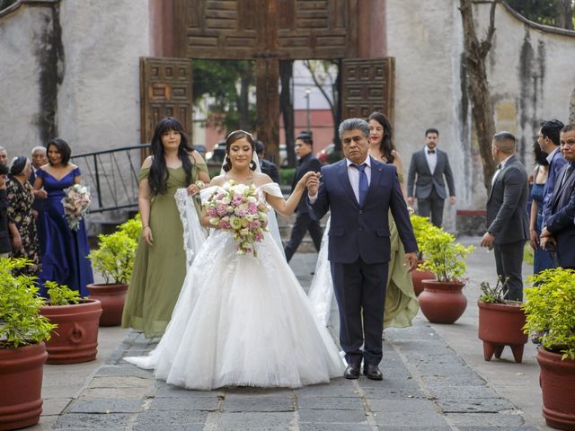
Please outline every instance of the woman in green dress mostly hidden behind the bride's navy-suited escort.
[{"label": "woman in green dress mostly hidden behind the bride's navy-suited escort", "polygon": [[[379,162],[394,164],[397,169],[403,196],[405,185],[403,181],[403,163],[395,151],[392,142],[392,128],[389,120],[380,112],[373,112],[368,119],[369,124],[369,154]],[[411,320],[419,310],[417,296],[413,292],[411,273],[403,265],[405,251],[399,241],[394,217],[389,217],[391,233],[391,260],[387,272],[387,290],[385,292],[384,328],[404,328],[411,326]]]}]

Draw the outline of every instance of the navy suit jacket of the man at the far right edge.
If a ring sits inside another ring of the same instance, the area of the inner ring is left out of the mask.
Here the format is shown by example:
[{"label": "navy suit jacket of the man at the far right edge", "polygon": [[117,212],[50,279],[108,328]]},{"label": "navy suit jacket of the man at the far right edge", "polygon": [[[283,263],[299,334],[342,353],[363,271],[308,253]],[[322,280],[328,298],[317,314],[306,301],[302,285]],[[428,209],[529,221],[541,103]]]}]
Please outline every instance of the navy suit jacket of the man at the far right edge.
[{"label": "navy suit jacket of the man at the far right edge", "polygon": [[[571,164],[575,165],[575,162]],[[575,167],[571,175],[562,183],[570,163],[559,173],[553,188],[551,212],[545,219],[549,233],[557,240],[557,258],[563,268],[575,268]]]}]

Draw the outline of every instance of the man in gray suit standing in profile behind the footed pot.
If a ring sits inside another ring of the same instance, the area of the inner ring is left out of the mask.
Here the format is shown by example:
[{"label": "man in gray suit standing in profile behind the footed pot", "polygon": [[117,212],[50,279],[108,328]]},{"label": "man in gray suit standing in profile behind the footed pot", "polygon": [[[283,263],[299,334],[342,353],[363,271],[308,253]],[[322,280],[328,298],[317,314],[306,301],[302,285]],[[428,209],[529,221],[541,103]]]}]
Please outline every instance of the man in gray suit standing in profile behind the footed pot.
[{"label": "man in gray suit standing in profile behind the footed pot", "polygon": [[487,233],[482,247],[492,248],[498,277],[507,279],[506,299],[523,300],[521,265],[523,248],[529,237],[527,195],[529,187],[525,166],[515,155],[515,136],[500,132],[493,136],[491,153],[499,163],[491,179],[487,198]]}]

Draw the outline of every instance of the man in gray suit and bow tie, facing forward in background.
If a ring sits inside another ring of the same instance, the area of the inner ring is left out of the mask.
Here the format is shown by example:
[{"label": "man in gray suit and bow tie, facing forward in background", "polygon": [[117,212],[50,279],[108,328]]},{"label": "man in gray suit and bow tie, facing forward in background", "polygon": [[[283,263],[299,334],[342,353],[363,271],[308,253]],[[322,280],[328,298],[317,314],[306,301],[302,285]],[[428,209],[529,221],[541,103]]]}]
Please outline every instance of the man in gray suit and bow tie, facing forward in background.
[{"label": "man in gray suit and bow tie, facing forward in background", "polygon": [[438,129],[428,128],[425,131],[425,146],[411,155],[410,172],[407,177],[407,203],[413,205],[413,184],[415,184],[418,214],[424,217],[429,217],[431,214],[431,223],[441,227],[443,207],[447,198],[443,177],[445,176],[447,180],[451,205],[456,203],[456,186],[447,153],[437,148],[438,140]]}]

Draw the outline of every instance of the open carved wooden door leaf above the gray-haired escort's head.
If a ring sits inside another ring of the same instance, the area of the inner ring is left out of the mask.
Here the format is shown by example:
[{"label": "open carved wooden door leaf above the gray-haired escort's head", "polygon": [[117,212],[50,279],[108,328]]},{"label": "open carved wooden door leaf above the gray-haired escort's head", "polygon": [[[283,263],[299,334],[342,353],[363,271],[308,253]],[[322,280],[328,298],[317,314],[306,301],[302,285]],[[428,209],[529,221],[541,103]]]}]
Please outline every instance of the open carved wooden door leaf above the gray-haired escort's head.
[{"label": "open carved wooden door leaf above the gray-haired escort's head", "polygon": [[367,119],[377,110],[394,124],[394,58],[341,60],[341,119]]}]

